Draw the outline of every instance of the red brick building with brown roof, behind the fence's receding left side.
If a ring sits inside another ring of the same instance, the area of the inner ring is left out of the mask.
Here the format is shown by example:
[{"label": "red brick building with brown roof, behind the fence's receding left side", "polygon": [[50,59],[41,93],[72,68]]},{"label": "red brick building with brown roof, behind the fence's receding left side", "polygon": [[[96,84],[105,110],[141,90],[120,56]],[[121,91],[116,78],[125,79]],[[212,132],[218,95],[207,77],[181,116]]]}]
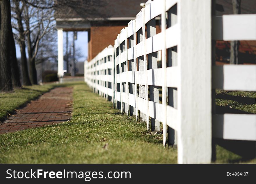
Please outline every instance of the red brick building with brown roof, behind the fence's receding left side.
[{"label": "red brick building with brown roof, behind the fence's receding left side", "polygon": [[[62,6],[56,10],[56,27],[63,31],[88,31],[88,60],[93,59],[114,40],[147,0],[104,0],[91,7]],[[81,1],[83,2],[83,1]],[[97,1],[95,1],[97,2]]]}]

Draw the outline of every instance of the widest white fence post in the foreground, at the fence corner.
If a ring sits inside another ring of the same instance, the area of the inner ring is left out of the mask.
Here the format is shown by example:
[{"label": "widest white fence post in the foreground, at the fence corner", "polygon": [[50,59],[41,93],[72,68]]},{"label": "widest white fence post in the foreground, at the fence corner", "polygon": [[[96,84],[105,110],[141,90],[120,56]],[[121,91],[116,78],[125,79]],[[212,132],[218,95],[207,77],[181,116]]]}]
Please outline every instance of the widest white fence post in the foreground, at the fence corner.
[{"label": "widest white fence post in the foreground, at the fence corner", "polygon": [[178,163],[211,162],[211,0],[178,2]]}]

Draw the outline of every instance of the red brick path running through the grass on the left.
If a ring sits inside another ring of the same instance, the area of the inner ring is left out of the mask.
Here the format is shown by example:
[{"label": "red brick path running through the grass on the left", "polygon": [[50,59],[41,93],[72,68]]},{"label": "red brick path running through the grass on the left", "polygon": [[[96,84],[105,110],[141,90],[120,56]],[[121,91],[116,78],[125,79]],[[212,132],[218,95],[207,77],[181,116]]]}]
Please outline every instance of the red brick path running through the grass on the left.
[{"label": "red brick path running through the grass on the left", "polygon": [[31,101],[0,124],[0,134],[67,121],[72,112],[71,87],[55,88]]}]

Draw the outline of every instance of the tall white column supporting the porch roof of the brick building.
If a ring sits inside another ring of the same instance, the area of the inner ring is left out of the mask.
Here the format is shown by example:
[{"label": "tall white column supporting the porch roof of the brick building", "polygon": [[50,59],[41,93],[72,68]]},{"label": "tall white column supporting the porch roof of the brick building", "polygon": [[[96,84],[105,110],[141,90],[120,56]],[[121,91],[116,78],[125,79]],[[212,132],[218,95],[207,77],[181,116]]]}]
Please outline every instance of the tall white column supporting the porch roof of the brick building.
[{"label": "tall white column supporting the porch roof of the brick building", "polygon": [[58,77],[64,76],[63,29],[58,29]]}]

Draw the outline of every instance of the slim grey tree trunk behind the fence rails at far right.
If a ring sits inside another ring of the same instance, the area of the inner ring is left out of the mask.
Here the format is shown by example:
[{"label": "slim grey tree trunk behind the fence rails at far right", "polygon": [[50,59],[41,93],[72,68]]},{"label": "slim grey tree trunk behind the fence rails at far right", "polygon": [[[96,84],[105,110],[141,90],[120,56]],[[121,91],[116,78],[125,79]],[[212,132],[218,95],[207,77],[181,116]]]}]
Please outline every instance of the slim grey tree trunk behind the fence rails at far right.
[{"label": "slim grey tree trunk behind the fence rails at far right", "polygon": [[[232,0],[233,4],[233,13],[241,14],[241,0]],[[239,45],[240,42],[235,40],[230,43],[230,64],[239,64],[238,55],[239,55]]]}]

